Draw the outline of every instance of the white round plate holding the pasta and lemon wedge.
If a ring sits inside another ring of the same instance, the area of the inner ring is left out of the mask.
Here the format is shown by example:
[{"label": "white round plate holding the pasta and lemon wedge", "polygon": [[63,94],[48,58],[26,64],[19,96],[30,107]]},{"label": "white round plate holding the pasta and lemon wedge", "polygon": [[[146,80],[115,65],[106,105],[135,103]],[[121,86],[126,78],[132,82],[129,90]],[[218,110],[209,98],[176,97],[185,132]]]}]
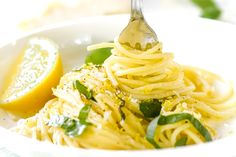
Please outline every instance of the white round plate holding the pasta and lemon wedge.
[{"label": "white round plate holding the pasta and lemon wedge", "polygon": [[[85,48],[91,43],[110,41],[127,24],[129,17],[108,16],[80,19],[34,32],[0,49],[0,82],[14,57],[32,36],[51,38],[59,44],[66,71],[80,65],[86,55]],[[164,43],[164,50],[175,53],[176,61],[202,67],[236,81],[236,26],[206,20],[184,19],[168,16],[147,16],[149,24]],[[0,83],[1,88],[1,83]],[[182,147],[178,149],[146,151],[85,150],[59,147],[49,143],[34,141],[14,133],[7,128],[15,125],[0,111],[0,144],[19,153],[22,157],[154,157],[154,156],[233,156],[236,155],[236,133],[211,143]],[[222,134],[236,131],[233,123],[223,126]]]}]

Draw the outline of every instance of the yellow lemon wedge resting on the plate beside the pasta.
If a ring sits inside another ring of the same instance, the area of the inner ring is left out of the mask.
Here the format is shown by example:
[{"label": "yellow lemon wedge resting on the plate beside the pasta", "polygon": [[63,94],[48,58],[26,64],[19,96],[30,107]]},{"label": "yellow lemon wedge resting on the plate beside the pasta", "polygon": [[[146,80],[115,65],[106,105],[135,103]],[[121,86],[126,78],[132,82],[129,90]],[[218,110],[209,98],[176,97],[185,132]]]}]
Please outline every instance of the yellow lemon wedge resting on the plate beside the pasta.
[{"label": "yellow lemon wedge resting on the plate beside the pasta", "polygon": [[63,74],[58,46],[45,38],[33,38],[18,59],[11,79],[0,97],[0,106],[28,116],[52,97]]}]

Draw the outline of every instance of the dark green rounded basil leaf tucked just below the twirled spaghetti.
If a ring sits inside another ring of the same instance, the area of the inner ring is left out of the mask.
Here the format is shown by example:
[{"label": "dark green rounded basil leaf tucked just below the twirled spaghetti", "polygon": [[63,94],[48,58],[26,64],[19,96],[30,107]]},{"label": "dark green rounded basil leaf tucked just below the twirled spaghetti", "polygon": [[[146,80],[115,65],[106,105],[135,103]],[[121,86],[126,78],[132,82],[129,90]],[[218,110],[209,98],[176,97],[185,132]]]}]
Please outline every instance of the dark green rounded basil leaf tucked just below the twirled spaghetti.
[{"label": "dark green rounded basil leaf tucked just below the twirled spaghetti", "polygon": [[145,100],[139,104],[139,110],[145,118],[155,118],[161,112],[161,102],[157,99]]}]

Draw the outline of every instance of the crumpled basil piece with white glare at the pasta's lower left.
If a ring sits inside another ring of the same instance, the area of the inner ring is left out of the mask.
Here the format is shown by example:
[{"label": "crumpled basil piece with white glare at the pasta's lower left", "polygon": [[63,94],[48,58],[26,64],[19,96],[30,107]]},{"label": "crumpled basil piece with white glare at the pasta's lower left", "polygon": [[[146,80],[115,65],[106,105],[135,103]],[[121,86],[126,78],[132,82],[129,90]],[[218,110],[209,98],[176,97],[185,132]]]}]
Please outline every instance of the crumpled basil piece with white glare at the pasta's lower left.
[{"label": "crumpled basil piece with white glare at the pasta's lower left", "polygon": [[64,129],[65,134],[69,137],[80,136],[88,125],[90,125],[90,123],[86,121],[90,108],[91,107],[89,105],[85,105],[80,111],[79,119],[72,119],[61,115],[53,115],[47,125]]}]

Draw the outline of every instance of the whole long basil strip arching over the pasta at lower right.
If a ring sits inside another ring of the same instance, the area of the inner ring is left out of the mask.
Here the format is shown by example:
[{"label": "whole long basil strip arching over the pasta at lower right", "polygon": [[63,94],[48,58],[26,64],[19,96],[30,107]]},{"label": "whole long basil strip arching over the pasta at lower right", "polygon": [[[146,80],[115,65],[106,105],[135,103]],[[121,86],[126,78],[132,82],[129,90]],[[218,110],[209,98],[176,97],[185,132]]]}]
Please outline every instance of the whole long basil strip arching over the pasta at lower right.
[{"label": "whole long basil strip arching over the pasta at lower right", "polygon": [[[173,124],[176,122],[179,122],[181,120],[189,120],[192,125],[198,130],[198,132],[205,138],[206,141],[212,141],[211,134],[208,132],[208,130],[201,124],[199,120],[194,118],[189,113],[177,113],[177,114],[171,114],[168,116],[160,115],[153,119],[148,127],[147,127],[147,134],[146,139],[155,147],[160,148],[159,145],[155,142],[155,132],[158,125],[166,125],[166,124]],[[184,139],[180,141],[180,144],[184,143]]]}]

